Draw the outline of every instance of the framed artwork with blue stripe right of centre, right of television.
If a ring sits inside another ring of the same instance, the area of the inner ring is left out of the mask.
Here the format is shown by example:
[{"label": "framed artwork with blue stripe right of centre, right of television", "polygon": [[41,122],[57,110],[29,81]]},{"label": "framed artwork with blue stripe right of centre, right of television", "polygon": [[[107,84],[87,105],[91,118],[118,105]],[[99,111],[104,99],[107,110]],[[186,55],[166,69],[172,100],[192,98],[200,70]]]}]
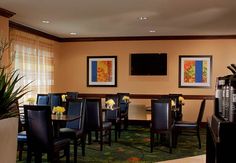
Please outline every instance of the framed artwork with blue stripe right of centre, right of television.
[{"label": "framed artwork with blue stripe right of centre, right of television", "polygon": [[179,87],[207,88],[211,86],[212,56],[179,56]]}]

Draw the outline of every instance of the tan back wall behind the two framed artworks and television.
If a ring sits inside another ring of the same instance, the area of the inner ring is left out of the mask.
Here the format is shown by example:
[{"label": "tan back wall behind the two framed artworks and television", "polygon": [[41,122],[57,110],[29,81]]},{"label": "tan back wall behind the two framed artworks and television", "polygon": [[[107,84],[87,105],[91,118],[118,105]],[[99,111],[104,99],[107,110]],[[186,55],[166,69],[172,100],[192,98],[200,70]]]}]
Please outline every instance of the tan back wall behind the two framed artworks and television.
[{"label": "tan back wall behind the two framed artworks and television", "polygon": [[[165,40],[165,41],[110,41],[62,43],[55,70],[55,91],[79,91],[81,93],[137,94],[182,93],[194,95],[213,95],[215,78],[230,73],[226,66],[236,63],[236,40]],[[167,76],[130,76],[130,53],[166,52],[168,53]],[[118,86],[87,87],[87,56],[116,55],[118,57]],[[211,88],[178,88],[179,55],[212,55]],[[146,101],[145,103],[149,103]],[[196,117],[200,101],[186,101],[184,117]],[[134,105],[134,103],[133,103]],[[192,108],[192,109],[190,109]],[[185,111],[186,110],[186,111]],[[204,121],[213,112],[213,102],[207,102]]]}]

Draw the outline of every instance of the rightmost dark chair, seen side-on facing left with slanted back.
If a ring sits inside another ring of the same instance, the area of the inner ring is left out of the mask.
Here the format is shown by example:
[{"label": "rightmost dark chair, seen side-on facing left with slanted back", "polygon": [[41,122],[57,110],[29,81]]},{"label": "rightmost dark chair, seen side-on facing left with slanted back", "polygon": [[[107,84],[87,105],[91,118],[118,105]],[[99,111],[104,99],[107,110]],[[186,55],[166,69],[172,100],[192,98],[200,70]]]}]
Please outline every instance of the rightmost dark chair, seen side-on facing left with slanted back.
[{"label": "rightmost dark chair, seen side-on facing left with slanted back", "polygon": [[201,149],[200,124],[204,114],[206,100],[203,99],[200,105],[198,117],[195,122],[176,121],[174,123],[175,144],[177,144],[178,135],[194,136],[198,138],[198,148]]}]

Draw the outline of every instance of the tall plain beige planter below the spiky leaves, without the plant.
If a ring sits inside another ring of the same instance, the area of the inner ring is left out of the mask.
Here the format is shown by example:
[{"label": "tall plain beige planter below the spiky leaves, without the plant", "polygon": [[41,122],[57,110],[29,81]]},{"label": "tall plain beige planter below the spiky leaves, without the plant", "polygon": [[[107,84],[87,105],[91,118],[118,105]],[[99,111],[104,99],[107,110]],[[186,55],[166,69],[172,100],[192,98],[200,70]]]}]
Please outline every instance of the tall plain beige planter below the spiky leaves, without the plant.
[{"label": "tall plain beige planter below the spiky leaves, without the plant", "polygon": [[2,163],[15,163],[17,153],[18,118],[0,120],[0,158]]}]

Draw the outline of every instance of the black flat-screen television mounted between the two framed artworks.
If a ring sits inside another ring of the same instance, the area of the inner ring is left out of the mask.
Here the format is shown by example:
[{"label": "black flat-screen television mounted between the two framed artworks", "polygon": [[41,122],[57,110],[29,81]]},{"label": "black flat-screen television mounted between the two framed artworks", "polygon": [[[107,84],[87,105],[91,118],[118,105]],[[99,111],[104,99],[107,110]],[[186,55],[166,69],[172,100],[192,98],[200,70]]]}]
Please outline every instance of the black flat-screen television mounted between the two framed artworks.
[{"label": "black flat-screen television mounted between the two framed artworks", "polygon": [[130,54],[131,75],[167,75],[167,53]]}]

